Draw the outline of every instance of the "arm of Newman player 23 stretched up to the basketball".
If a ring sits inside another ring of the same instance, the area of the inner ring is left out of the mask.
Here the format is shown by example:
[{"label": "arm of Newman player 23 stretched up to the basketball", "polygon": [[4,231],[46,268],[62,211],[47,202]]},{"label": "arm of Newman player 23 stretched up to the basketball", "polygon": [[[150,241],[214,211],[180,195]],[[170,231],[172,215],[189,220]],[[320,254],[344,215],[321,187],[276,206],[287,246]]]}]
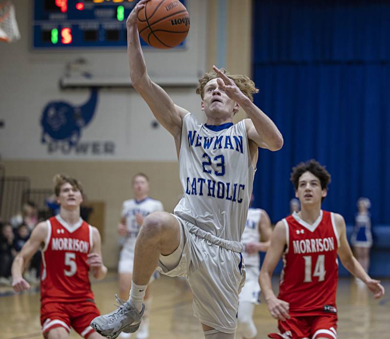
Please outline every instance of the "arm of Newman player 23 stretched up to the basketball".
[{"label": "arm of Newman player 23 stretched up to the basketball", "polygon": [[165,90],[150,79],[139,41],[137,14],[139,10],[145,7],[145,3],[148,1],[139,1],[126,21],[130,77],[133,87],[149,105],[158,122],[176,140],[181,137],[182,118],[187,114],[187,111],[184,108],[176,106]]}]

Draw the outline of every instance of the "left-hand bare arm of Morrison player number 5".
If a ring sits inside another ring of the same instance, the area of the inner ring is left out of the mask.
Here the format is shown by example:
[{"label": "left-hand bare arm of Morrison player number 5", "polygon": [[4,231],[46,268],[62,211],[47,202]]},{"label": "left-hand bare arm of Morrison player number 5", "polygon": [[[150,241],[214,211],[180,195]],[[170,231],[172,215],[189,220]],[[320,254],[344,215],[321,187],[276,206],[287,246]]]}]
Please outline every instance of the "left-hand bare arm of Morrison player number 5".
[{"label": "left-hand bare arm of Morrison player number 5", "polygon": [[23,245],[22,249],[15,257],[12,263],[12,287],[16,292],[30,289],[30,285],[23,279],[24,264],[31,259],[31,257],[44,244],[47,237],[48,225],[46,222],[40,222],[31,233],[30,238]]}]

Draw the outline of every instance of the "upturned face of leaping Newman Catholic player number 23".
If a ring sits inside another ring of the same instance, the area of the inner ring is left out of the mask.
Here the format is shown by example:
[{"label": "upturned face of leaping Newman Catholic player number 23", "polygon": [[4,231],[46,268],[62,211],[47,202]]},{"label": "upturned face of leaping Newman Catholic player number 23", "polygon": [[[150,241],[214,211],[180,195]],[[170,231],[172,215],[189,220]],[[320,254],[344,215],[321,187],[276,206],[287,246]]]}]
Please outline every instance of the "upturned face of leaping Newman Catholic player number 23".
[{"label": "upturned face of leaping Newman Catholic player number 23", "polygon": [[208,118],[224,116],[233,118],[234,112],[239,109],[239,105],[218,86],[216,79],[211,79],[203,92],[201,108]]}]

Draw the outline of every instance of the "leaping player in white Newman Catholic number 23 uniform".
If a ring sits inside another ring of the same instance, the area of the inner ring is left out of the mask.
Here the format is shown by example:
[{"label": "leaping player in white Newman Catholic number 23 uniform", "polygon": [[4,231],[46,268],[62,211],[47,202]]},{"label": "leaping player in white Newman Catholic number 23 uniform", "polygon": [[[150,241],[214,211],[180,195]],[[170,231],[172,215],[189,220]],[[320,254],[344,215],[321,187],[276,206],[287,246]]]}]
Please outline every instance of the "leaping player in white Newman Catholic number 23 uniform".
[{"label": "leaping player in white Newman Catholic number 23 uniform", "polygon": [[[107,338],[137,331],[142,301],[157,269],[186,276],[194,294],[194,315],[206,339],[233,339],[238,294],[245,281],[240,243],[252,194],[257,147],[276,151],[283,138],[272,120],[252,102],[254,83],[243,75],[227,76],[213,67],[199,80],[201,109],[207,124],[175,105],[149,77],[137,31],[137,3],[127,18],[128,57],[133,87],[158,122],[172,134],[179,159],[183,197],[174,214],[149,214],[139,232],[130,299],[91,325]],[[248,114],[233,125],[242,107]]]}]

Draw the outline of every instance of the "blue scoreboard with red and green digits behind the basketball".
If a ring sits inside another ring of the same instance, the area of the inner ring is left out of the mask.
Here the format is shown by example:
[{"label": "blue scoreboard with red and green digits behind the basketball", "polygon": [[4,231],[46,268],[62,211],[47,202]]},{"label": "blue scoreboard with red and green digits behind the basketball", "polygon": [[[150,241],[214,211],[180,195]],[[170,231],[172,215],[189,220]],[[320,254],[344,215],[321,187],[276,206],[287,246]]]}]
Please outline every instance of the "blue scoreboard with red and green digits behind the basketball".
[{"label": "blue scoreboard with red and green digits behind the basketball", "polygon": [[[126,18],[138,0],[34,0],[34,49],[127,46]],[[185,0],[180,0],[185,5]],[[141,39],[141,44],[147,44]],[[185,40],[178,46],[183,47]]]}]

